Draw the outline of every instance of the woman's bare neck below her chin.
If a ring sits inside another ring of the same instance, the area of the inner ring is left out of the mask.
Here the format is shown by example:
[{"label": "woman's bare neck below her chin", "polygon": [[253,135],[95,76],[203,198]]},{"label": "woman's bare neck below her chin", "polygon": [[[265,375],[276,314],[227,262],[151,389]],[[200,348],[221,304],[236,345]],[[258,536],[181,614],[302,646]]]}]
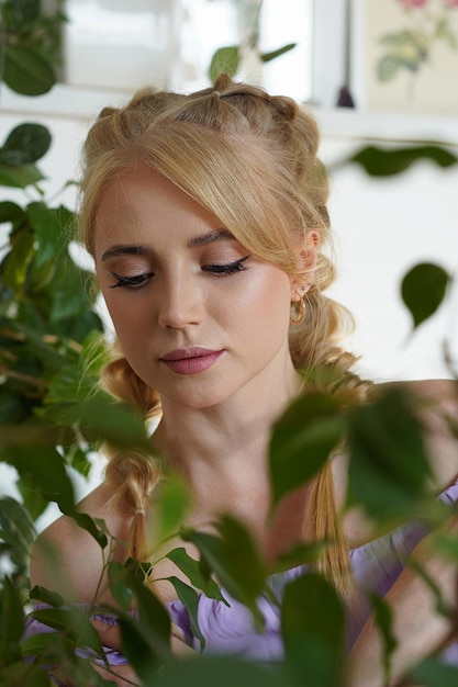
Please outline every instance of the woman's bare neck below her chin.
[{"label": "woman's bare neck below her chin", "polygon": [[256,403],[247,403],[242,394],[200,409],[163,402],[156,443],[190,486],[190,523],[231,513],[248,525],[258,540],[266,540],[271,427],[300,386],[294,372],[282,393],[267,388]]}]

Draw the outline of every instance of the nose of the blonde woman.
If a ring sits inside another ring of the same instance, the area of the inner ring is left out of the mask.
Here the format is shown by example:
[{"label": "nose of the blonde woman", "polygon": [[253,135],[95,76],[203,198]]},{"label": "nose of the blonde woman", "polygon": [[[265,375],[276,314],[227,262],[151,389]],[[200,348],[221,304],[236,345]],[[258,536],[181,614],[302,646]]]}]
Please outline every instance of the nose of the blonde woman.
[{"label": "nose of the blonde woman", "polygon": [[196,279],[181,277],[164,285],[158,315],[160,327],[179,329],[198,325],[202,316],[202,294]]}]

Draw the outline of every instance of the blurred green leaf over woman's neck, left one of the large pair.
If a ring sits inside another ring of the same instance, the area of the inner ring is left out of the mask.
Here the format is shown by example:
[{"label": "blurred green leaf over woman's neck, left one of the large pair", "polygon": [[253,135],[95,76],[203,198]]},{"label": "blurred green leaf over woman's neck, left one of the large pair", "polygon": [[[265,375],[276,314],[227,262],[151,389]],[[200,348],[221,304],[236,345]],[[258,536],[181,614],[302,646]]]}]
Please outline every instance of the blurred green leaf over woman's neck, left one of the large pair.
[{"label": "blurred green leaf over woman's neck, left one of the large pair", "polygon": [[273,506],[321,470],[340,441],[343,430],[335,396],[311,393],[291,404],[275,424],[270,442]]}]

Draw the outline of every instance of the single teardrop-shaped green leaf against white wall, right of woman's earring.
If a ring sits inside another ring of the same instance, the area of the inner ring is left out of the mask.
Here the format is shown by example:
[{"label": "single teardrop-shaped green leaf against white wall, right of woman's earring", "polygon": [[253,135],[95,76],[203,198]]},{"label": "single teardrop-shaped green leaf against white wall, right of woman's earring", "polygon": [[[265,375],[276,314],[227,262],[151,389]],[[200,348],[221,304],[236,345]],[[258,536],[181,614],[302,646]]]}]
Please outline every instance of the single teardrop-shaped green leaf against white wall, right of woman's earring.
[{"label": "single teardrop-shaped green leaf against white wall, right of woman's earring", "polygon": [[451,277],[439,266],[423,262],[402,280],[401,294],[410,309],[414,328],[431,317],[444,301]]}]

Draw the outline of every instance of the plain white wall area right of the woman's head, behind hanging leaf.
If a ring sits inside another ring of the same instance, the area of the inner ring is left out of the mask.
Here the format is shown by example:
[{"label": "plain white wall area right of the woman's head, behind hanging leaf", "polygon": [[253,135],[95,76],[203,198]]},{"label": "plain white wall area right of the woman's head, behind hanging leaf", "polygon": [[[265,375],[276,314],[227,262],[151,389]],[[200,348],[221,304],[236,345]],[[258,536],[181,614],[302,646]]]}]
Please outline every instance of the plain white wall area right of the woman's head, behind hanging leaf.
[{"label": "plain white wall area right of the woman's head, behind hanging leaf", "polygon": [[[332,159],[342,140],[324,140]],[[448,340],[458,363],[458,284],[439,311],[412,334],[400,296],[414,264],[437,262],[458,278],[458,166],[439,170],[418,164],[399,177],[371,180],[357,167],[332,177],[329,211],[337,241],[337,300],[356,317],[353,340],[369,376],[450,376]]]}]

